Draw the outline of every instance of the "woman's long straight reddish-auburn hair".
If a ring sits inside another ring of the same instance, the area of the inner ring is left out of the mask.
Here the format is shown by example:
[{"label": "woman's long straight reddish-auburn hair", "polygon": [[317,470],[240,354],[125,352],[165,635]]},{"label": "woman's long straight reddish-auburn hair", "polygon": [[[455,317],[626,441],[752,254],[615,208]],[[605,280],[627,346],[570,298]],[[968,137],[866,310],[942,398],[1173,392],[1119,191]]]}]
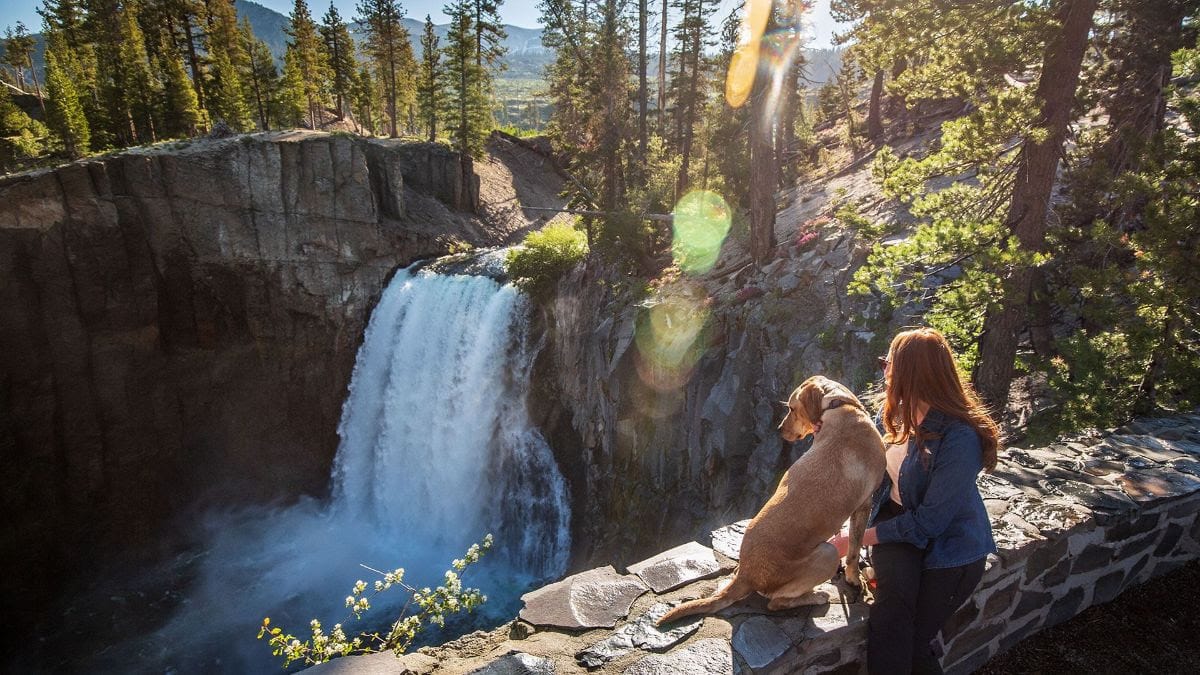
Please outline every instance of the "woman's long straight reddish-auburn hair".
[{"label": "woman's long straight reddish-auburn hair", "polygon": [[988,414],[979,396],[959,372],[954,354],[946,338],[932,328],[905,330],[892,340],[888,350],[890,372],[883,400],[883,440],[902,443],[916,436],[926,440],[917,425],[917,410],[922,404],[961,419],[979,435],[983,446],[983,466],[991,473],[996,468],[1000,449],[1000,426]]}]

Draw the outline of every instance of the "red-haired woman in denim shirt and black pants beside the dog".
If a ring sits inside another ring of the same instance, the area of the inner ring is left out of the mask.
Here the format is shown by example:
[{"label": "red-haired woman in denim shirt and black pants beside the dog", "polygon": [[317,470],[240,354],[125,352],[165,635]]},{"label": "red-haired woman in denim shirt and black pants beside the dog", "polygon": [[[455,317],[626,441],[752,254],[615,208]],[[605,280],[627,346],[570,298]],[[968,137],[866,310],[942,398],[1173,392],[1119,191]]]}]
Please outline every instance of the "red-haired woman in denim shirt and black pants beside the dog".
[{"label": "red-haired woman in denim shirt and black pants beside the dog", "polygon": [[[888,471],[863,538],[877,581],[866,667],[941,673],[934,639],[996,550],[976,476],[995,468],[1000,429],[962,382],[941,333],[896,335],[881,364]],[[841,555],[850,545],[842,534],[829,542]]]}]

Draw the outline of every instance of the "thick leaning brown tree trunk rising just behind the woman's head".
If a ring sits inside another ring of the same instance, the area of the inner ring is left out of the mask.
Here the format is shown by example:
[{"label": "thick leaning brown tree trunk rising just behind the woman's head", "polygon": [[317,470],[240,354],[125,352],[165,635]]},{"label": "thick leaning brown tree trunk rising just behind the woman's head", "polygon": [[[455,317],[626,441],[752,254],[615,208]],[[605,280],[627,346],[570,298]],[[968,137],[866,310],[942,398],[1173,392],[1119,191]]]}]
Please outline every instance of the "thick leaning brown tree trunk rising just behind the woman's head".
[{"label": "thick leaning brown tree trunk rising just behind the woman's head", "polygon": [[[1008,211],[1008,227],[1016,235],[1022,251],[1037,252],[1045,244],[1046,210],[1075,103],[1075,89],[1079,85],[1079,72],[1096,5],[1097,0],[1062,0],[1057,7],[1056,14],[1062,28],[1046,44],[1037,90],[1037,98],[1042,102],[1038,126],[1046,135],[1040,143],[1025,141]],[[1018,335],[1028,323],[1033,273],[1030,267],[1014,269],[1006,280],[1001,301],[988,309],[984,319],[974,384],[996,411],[1002,411],[1008,401]]]}]

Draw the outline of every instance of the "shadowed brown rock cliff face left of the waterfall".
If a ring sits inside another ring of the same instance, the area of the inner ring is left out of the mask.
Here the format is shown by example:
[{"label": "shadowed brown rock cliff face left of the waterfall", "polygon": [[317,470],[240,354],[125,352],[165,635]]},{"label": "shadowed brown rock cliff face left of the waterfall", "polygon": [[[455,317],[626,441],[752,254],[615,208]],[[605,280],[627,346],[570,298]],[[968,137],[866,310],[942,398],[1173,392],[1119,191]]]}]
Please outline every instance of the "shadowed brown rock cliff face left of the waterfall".
[{"label": "shadowed brown rock cliff face left of the waterfall", "polygon": [[319,133],[0,180],[0,602],[205,500],[323,491],[391,273],[511,234],[478,195],[444,148]]}]

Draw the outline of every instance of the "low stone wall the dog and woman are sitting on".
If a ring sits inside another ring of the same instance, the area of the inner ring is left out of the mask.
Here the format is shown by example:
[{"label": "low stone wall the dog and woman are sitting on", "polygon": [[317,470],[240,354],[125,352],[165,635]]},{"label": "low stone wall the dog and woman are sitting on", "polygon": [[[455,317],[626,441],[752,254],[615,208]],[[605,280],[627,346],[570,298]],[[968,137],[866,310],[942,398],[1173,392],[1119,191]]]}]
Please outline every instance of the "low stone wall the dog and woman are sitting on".
[{"label": "low stone wall the dog and woman are sitting on", "polygon": [[[1003,453],[979,478],[1000,548],[944,635],[947,673],[970,673],[1037,631],[1200,558],[1200,413],[1140,420]],[[659,631],[654,619],[712,593],[746,521],[624,571],[590,569],[524,597],[521,616],[440,647],[338,659],[322,675],[859,673],[869,599],[841,580],[814,608],[751,598]]]}]

